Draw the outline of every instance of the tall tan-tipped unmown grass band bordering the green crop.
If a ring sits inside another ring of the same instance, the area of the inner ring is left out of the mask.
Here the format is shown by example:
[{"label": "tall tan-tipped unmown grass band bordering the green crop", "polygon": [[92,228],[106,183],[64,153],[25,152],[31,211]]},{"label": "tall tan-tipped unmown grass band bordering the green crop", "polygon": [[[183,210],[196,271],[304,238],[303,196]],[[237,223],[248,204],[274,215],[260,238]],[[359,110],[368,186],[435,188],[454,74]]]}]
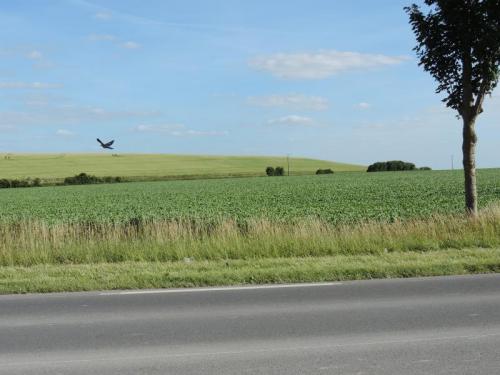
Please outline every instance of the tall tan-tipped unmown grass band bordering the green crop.
[{"label": "tall tan-tipped unmown grass band bordering the green crop", "polygon": [[477,219],[435,215],[354,226],[318,219],[293,224],[265,219],[0,224],[0,266],[378,255],[499,246],[498,205],[483,209]]}]

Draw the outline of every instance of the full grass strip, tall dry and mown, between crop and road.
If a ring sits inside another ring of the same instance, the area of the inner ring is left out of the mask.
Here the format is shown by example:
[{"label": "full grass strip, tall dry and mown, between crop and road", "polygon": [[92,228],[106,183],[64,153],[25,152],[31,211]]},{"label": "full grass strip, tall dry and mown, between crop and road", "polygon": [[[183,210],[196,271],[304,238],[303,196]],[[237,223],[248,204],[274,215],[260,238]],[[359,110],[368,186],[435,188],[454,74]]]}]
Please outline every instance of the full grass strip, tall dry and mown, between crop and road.
[{"label": "full grass strip, tall dry and mown, between crop and road", "polygon": [[0,293],[500,272],[500,206],[352,226],[151,221],[0,225]]}]

